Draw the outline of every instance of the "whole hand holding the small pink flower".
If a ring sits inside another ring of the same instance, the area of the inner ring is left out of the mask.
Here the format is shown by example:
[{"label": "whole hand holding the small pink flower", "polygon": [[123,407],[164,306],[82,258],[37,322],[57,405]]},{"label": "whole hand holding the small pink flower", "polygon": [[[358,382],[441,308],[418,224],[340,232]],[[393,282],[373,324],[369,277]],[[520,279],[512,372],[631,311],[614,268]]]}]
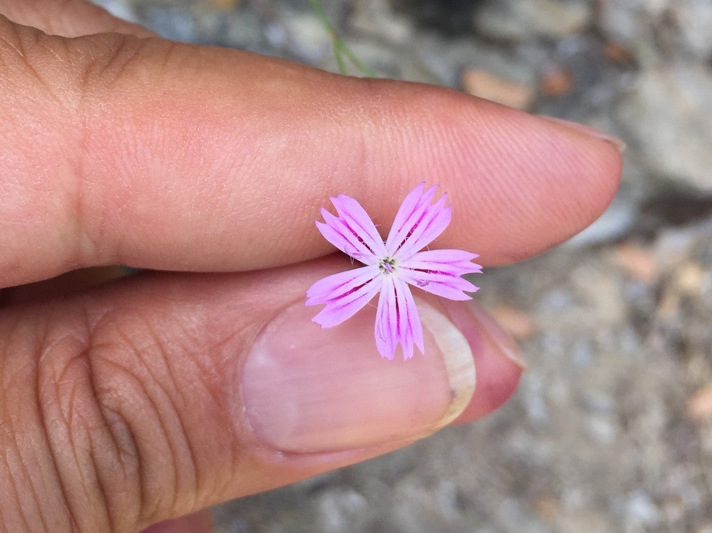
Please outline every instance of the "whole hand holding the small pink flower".
[{"label": "whole hand holding the small pink flower", "polygon": [[[577,233],[617,189],[610,142],[467,95],[170,43],[81,1],[0,13],[8,531],[204,531],[210,505],[506,401],[515,347],[475,305],[421,300],[427,355],[409,362],[378,356],[372,310],[310,322],[305,290],[346,261],[322,257],[328,196],[387,224],[439,184],[439,246],[499,265]],[[115,264],[157,271],[55,278]]]}]

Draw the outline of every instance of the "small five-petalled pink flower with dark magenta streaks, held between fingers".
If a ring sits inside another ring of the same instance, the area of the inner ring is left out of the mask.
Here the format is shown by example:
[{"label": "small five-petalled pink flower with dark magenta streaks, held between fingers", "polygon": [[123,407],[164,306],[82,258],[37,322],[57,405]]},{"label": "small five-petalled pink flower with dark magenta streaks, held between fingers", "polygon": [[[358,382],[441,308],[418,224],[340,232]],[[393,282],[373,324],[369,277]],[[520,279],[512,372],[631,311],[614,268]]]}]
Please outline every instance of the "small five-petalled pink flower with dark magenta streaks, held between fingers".
[{"label": "small five-petalled pink flower with dark magenta streaks, held between fingers", "polygon": [[388,238],[384,242],[362,206],[344,194],[331,202],[339,216],[322,208],[324,222],[316,225],[324,238],[365,266],[330,275],[307,291],[306,305],[325,304],[312,320],[321,327],[332,327],[356,314],[378,298],[376,346],[378,352],[393,359],[397,344],[403,358],[413,357],[413,344],[421,353],[423,329],[409,285],[450,300],[471,300],[464,291],[478,287],[461,275],[481,272],[471,261],[476,253],[463,250],[422,250],[450,223],[447,195],[432,204],[437,186],[425,190],[417,186],[400,206]]}]

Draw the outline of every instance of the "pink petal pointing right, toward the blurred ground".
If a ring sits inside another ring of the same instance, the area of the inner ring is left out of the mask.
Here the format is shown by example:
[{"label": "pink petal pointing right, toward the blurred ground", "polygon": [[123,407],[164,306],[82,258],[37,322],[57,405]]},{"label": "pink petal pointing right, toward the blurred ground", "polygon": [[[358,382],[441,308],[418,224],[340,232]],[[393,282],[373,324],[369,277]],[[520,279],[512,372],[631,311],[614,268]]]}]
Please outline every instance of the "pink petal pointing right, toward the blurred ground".
[{"label": "pink petal pointing right, toward the blurred ground", "polygon": [[478,287],[460,276],[482,271],[480,265],[471,262],[476,257],[463,250],[426,250],[405,260],[399,275],[426,292],[450,300],[471,300],[465,291],[476,292]]}]

